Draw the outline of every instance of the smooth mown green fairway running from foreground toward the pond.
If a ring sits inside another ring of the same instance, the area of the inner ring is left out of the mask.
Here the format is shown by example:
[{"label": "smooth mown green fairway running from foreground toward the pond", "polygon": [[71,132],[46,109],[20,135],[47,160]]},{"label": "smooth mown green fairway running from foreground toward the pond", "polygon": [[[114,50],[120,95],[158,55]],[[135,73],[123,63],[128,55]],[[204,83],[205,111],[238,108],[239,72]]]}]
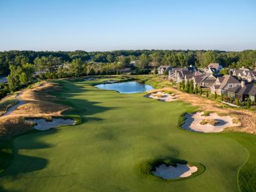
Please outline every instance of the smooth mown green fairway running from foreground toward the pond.
[{"label": "smooth mown green fairway running from foreground toward the pond", "polygon": [[[1,174],[0,191],[256,191],[255,135],[183,130],[182,114],[194,106],[95,88],[106,80],[56,81],[62,91],[52,94],[81,123],[14,138],[15,154]],[[175,181],[141,171],[156,159],[192,162],[204,170]]]}]

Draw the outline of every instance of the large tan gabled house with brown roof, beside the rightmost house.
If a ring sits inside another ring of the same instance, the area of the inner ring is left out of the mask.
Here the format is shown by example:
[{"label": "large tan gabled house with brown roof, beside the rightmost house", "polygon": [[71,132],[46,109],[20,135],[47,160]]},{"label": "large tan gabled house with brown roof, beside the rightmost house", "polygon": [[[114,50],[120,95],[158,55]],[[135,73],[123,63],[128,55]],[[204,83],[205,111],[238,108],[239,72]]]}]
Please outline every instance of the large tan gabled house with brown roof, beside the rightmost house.
[{"label": "large tan gabled house with brown roof, beside the rightmost house", "polygon": [[211,93],[227,94],[228,89],[240,86],[240,82],[231,75],[224,75],[223,77],[218,77],[214,84],[211,86]]}]

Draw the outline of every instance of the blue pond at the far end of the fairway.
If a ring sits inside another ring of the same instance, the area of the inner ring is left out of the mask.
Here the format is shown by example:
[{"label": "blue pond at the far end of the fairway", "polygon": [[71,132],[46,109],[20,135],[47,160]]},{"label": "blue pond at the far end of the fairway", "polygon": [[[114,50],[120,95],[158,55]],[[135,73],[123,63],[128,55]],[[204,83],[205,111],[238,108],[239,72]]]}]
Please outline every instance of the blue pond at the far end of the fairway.
[{"label": "blue pond at the far end of the fairway", "polygon": [[151,91],[154,88],[148,84],[143,84],[137,81],[127,81],[127,82],[114,82],[106,84],[98,84],[95,86],[100,89],[107,89],[118,91],[119,93],[143,93],[145,91]]}]

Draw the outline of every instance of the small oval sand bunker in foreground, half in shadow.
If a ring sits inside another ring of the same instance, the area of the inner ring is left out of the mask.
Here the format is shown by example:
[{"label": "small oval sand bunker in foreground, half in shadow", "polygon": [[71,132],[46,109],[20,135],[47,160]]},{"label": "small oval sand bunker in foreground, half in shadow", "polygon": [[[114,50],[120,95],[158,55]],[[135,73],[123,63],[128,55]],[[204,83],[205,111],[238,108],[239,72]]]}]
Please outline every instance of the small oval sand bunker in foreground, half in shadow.
[{"label": "small oval sand bunker in foreground, half in shadow", "polygon": [[156,167],[156,171],[152,171],[154,176],[158,176],[163,179],[177,179],[186,178],[190,176],[193,172],[197,171],[197,167],[188,166],[187,164],[178,164],[177,166],[167,166],[166,164],[161,164]]}]

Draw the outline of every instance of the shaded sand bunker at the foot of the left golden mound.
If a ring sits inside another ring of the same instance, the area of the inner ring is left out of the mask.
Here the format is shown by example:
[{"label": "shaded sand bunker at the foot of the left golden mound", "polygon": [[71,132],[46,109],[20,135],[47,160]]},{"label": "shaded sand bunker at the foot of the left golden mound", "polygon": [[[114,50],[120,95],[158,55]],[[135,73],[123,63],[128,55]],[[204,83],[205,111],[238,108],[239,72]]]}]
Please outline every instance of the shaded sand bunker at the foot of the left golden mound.
[{"label": "shaded sand bunker at the foot of the left golden mound", "polygon": [[45,131],[49,130],[50,128],[55,128],[60,125],[74,125],[74,120],[71,119],[63,119],[63,118],[52,118],[52,121],[47,121],[44,118],[40,119],[27,119],[28,121],[33,121],[36,123],[33,128]]}]

